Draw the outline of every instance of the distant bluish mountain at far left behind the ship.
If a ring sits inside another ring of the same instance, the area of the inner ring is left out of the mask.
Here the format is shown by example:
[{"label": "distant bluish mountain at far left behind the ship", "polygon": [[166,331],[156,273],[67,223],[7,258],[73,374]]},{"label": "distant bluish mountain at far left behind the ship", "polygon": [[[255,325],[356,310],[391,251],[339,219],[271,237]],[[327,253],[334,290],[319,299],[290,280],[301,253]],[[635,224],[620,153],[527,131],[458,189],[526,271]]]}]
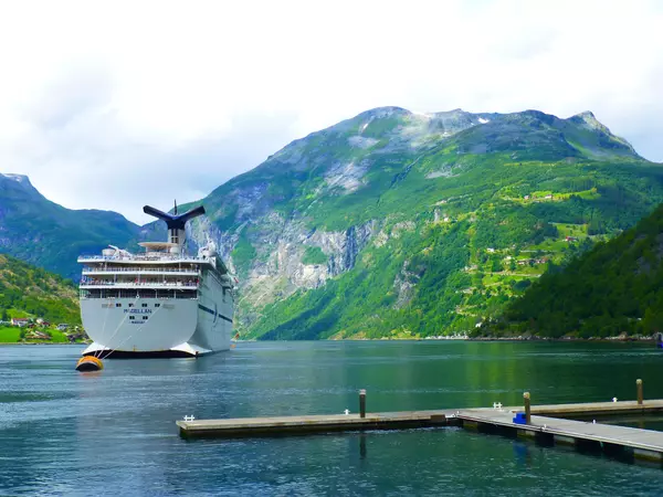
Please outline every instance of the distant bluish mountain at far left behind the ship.
[{"label": "distant bluish mountain at far left behind the ship", "polygon": [[21,175],[0,173],[0,251],[65,277],[78,278],[76,258],[109,243],[126,246],[139,226],[116,212],[70,210],[46,200]]}]

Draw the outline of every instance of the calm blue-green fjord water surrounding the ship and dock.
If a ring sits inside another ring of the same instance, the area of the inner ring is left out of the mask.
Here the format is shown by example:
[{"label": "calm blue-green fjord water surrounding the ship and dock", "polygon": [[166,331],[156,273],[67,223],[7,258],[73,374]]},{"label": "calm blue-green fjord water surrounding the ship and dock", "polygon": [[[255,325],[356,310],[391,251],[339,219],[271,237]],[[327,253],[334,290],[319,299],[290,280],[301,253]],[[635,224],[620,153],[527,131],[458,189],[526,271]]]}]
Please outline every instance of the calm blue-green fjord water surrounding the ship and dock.
[{"label": "calm blue-green fjord water surrounding the ship and dock", "polygon": [[0,495],[653,495],[663,470],[460,429],[183,441],[175,420],[663,398],[641,343],[241,342],[200,359],[0,347]]}]

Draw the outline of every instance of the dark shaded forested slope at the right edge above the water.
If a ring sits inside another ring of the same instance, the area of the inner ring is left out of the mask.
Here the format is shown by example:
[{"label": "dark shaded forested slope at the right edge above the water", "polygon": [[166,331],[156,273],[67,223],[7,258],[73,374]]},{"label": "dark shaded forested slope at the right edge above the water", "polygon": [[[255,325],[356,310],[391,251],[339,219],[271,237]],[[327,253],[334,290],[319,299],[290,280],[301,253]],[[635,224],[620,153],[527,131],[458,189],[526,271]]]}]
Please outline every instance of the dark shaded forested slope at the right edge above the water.
[{"label": "dark shaded forested slope at the right edge above the water", "polygon": [[663,331],[663,205],[635,228],[548,271],[477,334],[561,337]]}]

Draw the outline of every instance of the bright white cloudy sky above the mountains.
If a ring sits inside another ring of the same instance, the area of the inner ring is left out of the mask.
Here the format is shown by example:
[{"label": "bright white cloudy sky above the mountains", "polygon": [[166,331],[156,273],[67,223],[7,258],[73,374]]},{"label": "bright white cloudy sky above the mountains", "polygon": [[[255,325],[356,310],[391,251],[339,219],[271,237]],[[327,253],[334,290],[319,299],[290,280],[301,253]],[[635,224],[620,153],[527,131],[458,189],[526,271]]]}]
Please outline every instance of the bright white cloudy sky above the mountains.
[{"label": "bright white cloudy sky above the mountains", "polygon": [[147,221],[368,108],[591,109],[663,161],[663,2],[7,1],[0,171]]}]

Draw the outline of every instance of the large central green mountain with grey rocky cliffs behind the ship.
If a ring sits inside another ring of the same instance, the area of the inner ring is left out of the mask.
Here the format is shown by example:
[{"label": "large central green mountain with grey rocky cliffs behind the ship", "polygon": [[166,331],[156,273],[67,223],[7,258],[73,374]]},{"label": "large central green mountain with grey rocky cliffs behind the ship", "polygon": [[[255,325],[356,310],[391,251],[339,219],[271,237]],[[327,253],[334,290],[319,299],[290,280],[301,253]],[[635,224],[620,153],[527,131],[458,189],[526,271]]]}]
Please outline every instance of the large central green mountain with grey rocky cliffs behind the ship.
[{"label": "large central green mountain with grey rocky cliffs behind the ship", "polygon": [[253,338],[421,337],[496,316],[663,201],[663,167],[591,113],[359,114],[215,189],[210,235]]}]

